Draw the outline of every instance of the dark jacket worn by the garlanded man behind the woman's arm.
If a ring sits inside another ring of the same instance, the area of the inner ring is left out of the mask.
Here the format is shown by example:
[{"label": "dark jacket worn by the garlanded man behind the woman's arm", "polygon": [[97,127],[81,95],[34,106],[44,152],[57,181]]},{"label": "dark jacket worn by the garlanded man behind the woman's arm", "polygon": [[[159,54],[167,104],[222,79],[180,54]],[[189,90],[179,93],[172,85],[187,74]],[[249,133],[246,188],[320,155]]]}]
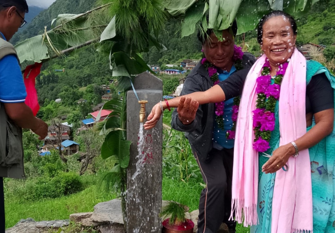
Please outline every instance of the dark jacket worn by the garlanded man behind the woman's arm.
[{"label": "dark jacket worn by the garlanded man behind the woman's arm", "polygon": [[[250,68],[256,61],[256,58],[251,53],[244,53],[243,66]],[[182,95],[187,95],[193,92],[203,92],[210,89],[213,82],[210,79],[206,68],[199,62],[186,77],[184,82]],[[213,123],[214,123],[214,104],[200,105],[195,117],[195,120],[184,125],[178,118],[177,108],[172,113],[172,128],[185,132],[186,138],[191,144],[193,153],[197,153],[198,158],[206,160],[209,151],[212,149],[213,139]]]}]

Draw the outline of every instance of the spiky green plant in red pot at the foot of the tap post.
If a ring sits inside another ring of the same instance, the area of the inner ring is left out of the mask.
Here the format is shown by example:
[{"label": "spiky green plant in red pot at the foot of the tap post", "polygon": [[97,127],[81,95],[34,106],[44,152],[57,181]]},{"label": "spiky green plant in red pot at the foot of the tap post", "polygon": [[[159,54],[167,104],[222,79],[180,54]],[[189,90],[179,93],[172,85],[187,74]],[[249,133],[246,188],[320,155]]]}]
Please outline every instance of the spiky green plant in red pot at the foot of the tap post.
[{"label": "spiky green plant in red pot at the foot of the tap post", "polygon": [[194,223],[186,219],[186,209],[186,206],[176,201],[169,201],[160,213],[160,217],[165,219],[162,222],[162,233],[193,233]]}]

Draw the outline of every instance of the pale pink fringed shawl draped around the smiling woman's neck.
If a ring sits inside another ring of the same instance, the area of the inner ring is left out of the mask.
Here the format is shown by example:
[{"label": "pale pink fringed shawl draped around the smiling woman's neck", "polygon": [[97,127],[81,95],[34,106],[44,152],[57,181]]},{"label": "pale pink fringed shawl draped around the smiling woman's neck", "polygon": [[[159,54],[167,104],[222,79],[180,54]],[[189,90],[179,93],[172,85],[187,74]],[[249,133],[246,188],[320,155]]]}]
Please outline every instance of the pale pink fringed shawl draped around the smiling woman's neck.
[{"label": "pale pink fringed shawl draped around the smiling woman's neck", "polygon": [[[251,68],[242,93],[235,137],[232,211],[244,226],[257,225],[258,152],[253,149],[253,110],[256,79],[266,56]],[[295,49],[284,75],[279,99],[280,143],[285,145],[306,133],[306,59]],[[276,173],[271,233],[313,232],[312,182],[308,150],[290,157],[288,171]]]}]

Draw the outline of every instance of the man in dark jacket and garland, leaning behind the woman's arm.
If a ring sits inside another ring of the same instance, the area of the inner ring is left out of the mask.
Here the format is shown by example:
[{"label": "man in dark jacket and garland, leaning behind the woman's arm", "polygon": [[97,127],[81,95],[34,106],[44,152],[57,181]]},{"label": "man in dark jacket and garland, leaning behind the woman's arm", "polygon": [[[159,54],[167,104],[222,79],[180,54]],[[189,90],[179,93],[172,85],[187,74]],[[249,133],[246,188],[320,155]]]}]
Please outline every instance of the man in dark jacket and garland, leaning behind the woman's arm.
[{"label": "man in dark jacket and garland, leaning behind the woman's arm", "polygon": [[[234,49],[233,37],[236,32],[235,22],[231,28],[222,31],[222,41],[210,29],[204,36],[198,33],[205,58],[217,70],[220,81],[239,68],[250,68],[256,60],[252,54],[244,53],[238,68],[234,61],[236,48]],[[204,59],[186,77],[181,95],[206,91],[214,85],[207,70],[208,65],[205,65],[206,68],[202,63]],[[224,127],[216,120],[215,104],[200,105],[195,113],[188,111],[190,103],[181,101],[172,115],[171,125],[174,129],[185,132],[206,183],[199,201],[198,233],[216,233],[222,222],[228,225],[230,233],[235,232],[236,223],[228,220],[231,209],[234,140],[226,138],[226,131],[232,129],[233,125],[232,105],[232,99],[224,103],[221,116]]]}]

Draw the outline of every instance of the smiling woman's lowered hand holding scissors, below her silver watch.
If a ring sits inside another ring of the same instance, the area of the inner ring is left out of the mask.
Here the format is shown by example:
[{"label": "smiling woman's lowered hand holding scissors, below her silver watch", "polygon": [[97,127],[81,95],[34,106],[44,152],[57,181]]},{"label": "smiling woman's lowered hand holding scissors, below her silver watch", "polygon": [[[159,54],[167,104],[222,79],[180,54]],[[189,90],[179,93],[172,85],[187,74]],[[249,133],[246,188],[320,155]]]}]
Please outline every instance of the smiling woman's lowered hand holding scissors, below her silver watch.
[{"label": "smiling woman's lowered hand holding scissors, below her silver watch", "polygon": [[287,163],[290,156],[294,155],[294,153],[295,149],[291,143],[278,147],[272,153],[271,158],[263,165],[262,172],[267,174],[278,171]]}]

